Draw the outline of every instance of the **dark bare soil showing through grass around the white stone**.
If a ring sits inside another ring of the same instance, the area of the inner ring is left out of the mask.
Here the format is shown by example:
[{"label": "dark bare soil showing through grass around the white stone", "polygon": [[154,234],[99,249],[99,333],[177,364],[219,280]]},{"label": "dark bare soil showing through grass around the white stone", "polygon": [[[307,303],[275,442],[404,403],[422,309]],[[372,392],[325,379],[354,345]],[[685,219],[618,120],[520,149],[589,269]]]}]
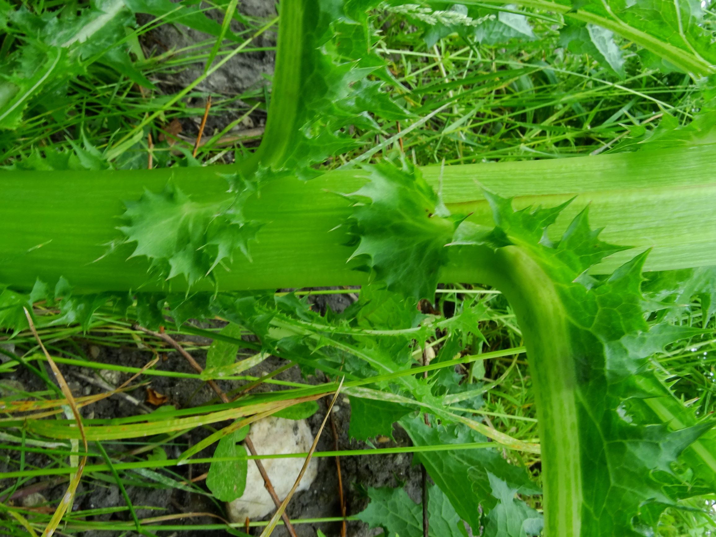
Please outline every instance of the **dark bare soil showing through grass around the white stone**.
[{"label": "dark bare soil showing through grass around the white stone", "polygon": [[[331,295],[319,296],[312,299],[316,309],[325,309],[329,307],[335,310],[344,309],[351,301],[347,295]],[[195,342],[208,344],[211,340],[200,337],[185,338]],[[150,359],[153,354],[140,349],[117,349],[113,347],[92,347],[86,345],[84,351],[88,356],[93,356],[97,362],[107,364],[122,364],[131,367],[142,367]],[[193,356],[203,366],[205,364],[205,352],[193,352]],[[253,376],[261,376],[267,372],[271,372],[286,362],[282,359],[271,357],[262,364],[248,370],[247,374]],[[101,387],[90,384],[87,379],[97,380],[97,370],[89,368],[61,366],[70,387],[75,395],[89,395],[103,392]],[[178,353],[169,352],[166,359],[160,360],[155,369],[173,372],[193,373],[193,369]],[[79,374],[79,375],[78,375]],[[121,384],[129,374],[117,374],[100,372],[102,377],[112,382],[112,384]],[[306,382],[301,377],[299,367],[282,372],[275,377],[279,380],[291,382]],[[26,369],[19,368],[14,374],[4,375],[4,381],[11,380],[22,384],[25,390],[44,390],[46,387],[36,375],[28,372]],[[311,376],[307,379],[309,383],[324,382],[325,377],[321,372],[317,376]],[[231,391],[239,387],[242,382],[222,381],[221,388],[225,391]],[[172,377],[150,377],[150,384],[142,386],[134,390],[129,395],[135,397],[139,405],[130,402],[120,396],[112,396],[108,399],[89,405],[82,410],[85,419],[99,418],[112,419],[119,417],[127,417],[137,415],[137,413],[155,410],[153,405],[146,402],[147,388],[151,388],[162,395],[168,397],[166,404],[174,405],[177,408],[195,407],[206,402],[216,399],[214,392],[203,382],[198,379],[176,379]],[[261,384],[256,391],[281,390],[276,384]],[[319,401],[319,412],[309,418],[309,425],[314,435],[318,432],[321,421],[325,416],[329,400]],[[337,442],[339,450],[363,449],[368,446],[364,442],[349,440],[348,428],[350,422],[350,405],[346,397],[339,397],[337,401],[337,409],[334,410],[334,420],[337,428]],[[213,424],[215,428],[225,427],[230,422],[220,422]],[[208,430],[195,429],[185,435],[177,437],[172,442],[163,445],[168,458],[176,458],[178,455],[202,440],[209,434]],[[138,439],[140,442],[144,439]],[[379,445],[380,448],[410,445],[410,439],[404,431],[395,430],[395,441],[384,442]],[[130,441],[106,445],[112,451],[129,451],[137,447]],[[203,450],[195,455],[197,458],[211,457],[216,445]],[[329,451],[334,450],[334,437],[330,422],[324,429],[317,450]],[[145,458],[146,454],[140,455]],[[14,458],[14,457],[13,457]],[[415,500],[420,500],[420,468],[412,466],[412,455],[396,454],[396,455],[374,455],[374,456],[351,456],[341,458],[342,479],[344,483],[344,496],[347,508],[347,514],[352,515],[362,511],[367,505],[367,498],[364,495],[364,487],[380,487],[380,486],[400,486],[406,484],[407,491]],[[341,509],[339,505],[338,495],[338,477],[337,466],[334,458],[317,458],[318,475],[309,490],[294,495],[289,503],[288,513],[291,518],[326,518],[340,516]],[[90,463],[100,463],[100,460],[91,460]],[[43,455],[28,454],[26,465],[37,465],[43,467],[47,465],[48,460]],[[7,471],[16,468],[16,463],[9,461],[0,463],[0,471]],[[173,475],[178,480],[190,480],[208,471],[208,465],[184,465],[181,467],[172,467],[163,470],[168,475]],[[166,488],[158,483],[152,483],[141,475],[136,475],[137,479],[145,482],[143,486],[132,485],[132,473],[125,473],[125,486],[127,494],[135,505],[137,516],[146,518],[152,516],[179,515],[182,513],[213,513],[216,516],[225,516],[223,504],[216,502],[208,495],[201,493],[192,493],[178,488]],[[35,481],[37,482],[37,480]],[[146,483],[154,485],[147,487]],[[30,481],[26,485],[32,485]],[[5,483],[9,485],[9,482]],[[203,481],[198,482],[203,490],[205,484]],[[54,486],[44,487],[41,493],[48,500],[57,500],[62,497],[67,487],[66,482],[57,483]],[[21,503],[22,498],[15,498],[15,503]],[[74,511],[97,509],[97,508],[117,508],[125,505],[125,499],[122,497],[117,485],[112,483],[110,479],[92,480],[89,483],[82,483],[77,490],[77,498],[74,502]],[[269,517],[267,516],[266,519]],[[100,516],[89,517],[95,521],[128,521],[131,520],[129,513],[126,511],[120,513],[106,513]],[[178,519],[171,521],[173,525],[185,524],[216,524],[218,519],[211,516],[193,516],[190,518]],[[340,532],[339,523],[305,523],[296,524],[296,533],[299,537],[314,537],[316,530],[320,529],[326,536],[338,536]],[[252,534],[258,535],[261,528],[253,528]],[[363,523],[352,521],[348,524],[348,535],[352,537],[369,537],[375,535],[374,530],[369,530]],[[161,534],[161,533],[160,533]],[[119,536],[120,532],[108,531],[86,531],[84,537],[108,537]],[[126,534],[126,535],[131,535]],[[167,533],[166,535],[170,535]],[[180,533],[178,534],[180,536]],[[192,531],[193,536],[203,535],[229,535],[226,531]],[[272,534],[276,537],[288,536],[288,532],[281,526],[276,528]]]}]

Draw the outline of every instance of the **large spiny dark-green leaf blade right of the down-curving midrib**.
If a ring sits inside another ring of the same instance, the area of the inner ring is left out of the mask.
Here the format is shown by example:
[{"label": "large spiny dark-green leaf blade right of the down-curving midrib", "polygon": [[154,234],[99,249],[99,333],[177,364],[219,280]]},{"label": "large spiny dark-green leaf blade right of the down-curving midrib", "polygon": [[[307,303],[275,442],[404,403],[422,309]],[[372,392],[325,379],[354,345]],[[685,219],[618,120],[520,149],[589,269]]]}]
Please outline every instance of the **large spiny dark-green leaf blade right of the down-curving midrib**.
[{"label": "large spiny dark-green leaf blade right of the down-curving midrib", "polygon": [[[580,535],[643,534],[643,529],[637,533],[634,523],[644,503],[649,503],[650,516],[657,520],[659,510],[663,511],[666,505],[674,505],[702,490],[692,488],[684,474],[674,471],[675,465],[689,464],[697,472],[691,478],[696,483],[711,483],[715,475],[716,463],[713,453],[708,451],[715,446],[700,440],[712,424],[697,420],[682,403],[674,404],[674,395],[648,361],[664,345],[702,331],[647,322],[654,309],[664,308],[642,295],[642,268],[648,251],[624,263],[608,278],[585,279],[589,263],[599,262],[619,249],[599,241],[599,230],[589,229],[586,211],[576,216],[561,241],[553,243],[546,239],[546,231],[558,211],[541,208],[513,211],[509,200],[489,193],[487,197],[498,228],[513,245],[509,248],[518,248],[540,267],[554,285],[553,300],[558,311],[563,311],[552,314],[566,324],[563,334],[523,334],[528,352],[535,348],[534,338],[543,338],[543,342],[556,339],[569,345],[568,351],[561,352],[569,353],[575,375],[574,386],[565,389],[571,393],[569,397],[574,397],[571,404],[579,431],[579,440],[576,435],[575,440],[581,461]],[[529,279],[530,274],[523,273],[521,277]],[[652,279],[650,291],[662,298],[676,294],[678,291],[668,283],[666,295],[654,289],[657,280]],[[692,288],[689,294],[694,292]],[[527,290],[519,299],[528,302],[530,294]],[[528,332],[526,327],[523,329]],[[550,384],[543,389],[555,390],[556,386]],[[659,405],[667,405],[668,412],[648,410],[662,408]],[[543,426],[549,431],[553,425],[548,422]],[[541,442],[545,453],[550,442],[556,440],[547,432]],[[543,478],[550,480],[555,470],[549,465],[557,461],[547,463],[543,460]],[[601,473],[594,468],[614,471]],[[553,518],[548,520],[559,518],[554,513],[551,511]],[[516,531],[514,528],[513,533]]]}]

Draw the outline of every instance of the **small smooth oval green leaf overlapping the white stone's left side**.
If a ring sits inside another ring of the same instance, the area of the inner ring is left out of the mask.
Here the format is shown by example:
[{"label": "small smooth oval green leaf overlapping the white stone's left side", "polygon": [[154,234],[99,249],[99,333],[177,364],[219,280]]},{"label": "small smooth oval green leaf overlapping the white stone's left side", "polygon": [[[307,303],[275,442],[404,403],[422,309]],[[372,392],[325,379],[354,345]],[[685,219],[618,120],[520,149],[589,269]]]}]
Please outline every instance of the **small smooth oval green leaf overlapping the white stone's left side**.
[{"label": "small smooth oval green leaf overlapping the white stone's left side", "polygon": [[214,457],[238,457],[237,460],[214,461],[209,466],[206,486],[218,500],[230,502],[241,498],[246,488],[248,459],[246,449],[239,444],[248,434],[248,425],[219,440]]}]

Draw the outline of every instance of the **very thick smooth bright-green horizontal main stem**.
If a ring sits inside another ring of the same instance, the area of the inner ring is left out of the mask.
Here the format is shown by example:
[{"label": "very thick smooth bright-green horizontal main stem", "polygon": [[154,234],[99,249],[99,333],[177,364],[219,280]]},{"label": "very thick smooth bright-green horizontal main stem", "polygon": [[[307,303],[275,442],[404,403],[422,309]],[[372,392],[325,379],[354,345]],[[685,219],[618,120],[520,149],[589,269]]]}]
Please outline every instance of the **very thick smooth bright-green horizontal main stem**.
[{"label": "very thick smooth bright-green horizontal main stem", "polygon": [[[195,200],[226,196],[224,175],[233,166],[97,172],[0,172],[0,282],[29,289],[37,278],[54,284],[66,277],[76,292],[162,288],[147,277],[144,258],[128,259],[132,245],[100,258],[124,211],[122,200],[137,200],[146,189],[158,192],[172,180]],[[591,222],[606,226],[603,237],[637,250],[612,256],[598,268],[611,271],[637,251],[653,248],[647,270],[716,264],[716,146],[619,153],[596,157],[486,163],[445,168],[442,193],[455,213],[490,225],[492,216],[481,187],[516,196],[517,208],[555,205],[576,197],[561,214],[554,233],[577,211],[591,205]],[[437,186],[440,168],[423,168]],[[253,262],[234,256],[230,271],[218,269],[223,290],[359,285],[364,274],[346,264],[351,248],[345,228],[349,201],[337,193],[364,184],[360,170],[339,170],[302,182],[294,178],[266,185],[249,200],[246,213],[266,222]],[[37,246],[43,245],[39,248]],[[450,248],[441,281],[476,281],[471,256]],[[178,279],[175,279],[178,280]],[[212,289],[205,284],[205,289]],[[173,291],[186,289],[172,281]]]}]

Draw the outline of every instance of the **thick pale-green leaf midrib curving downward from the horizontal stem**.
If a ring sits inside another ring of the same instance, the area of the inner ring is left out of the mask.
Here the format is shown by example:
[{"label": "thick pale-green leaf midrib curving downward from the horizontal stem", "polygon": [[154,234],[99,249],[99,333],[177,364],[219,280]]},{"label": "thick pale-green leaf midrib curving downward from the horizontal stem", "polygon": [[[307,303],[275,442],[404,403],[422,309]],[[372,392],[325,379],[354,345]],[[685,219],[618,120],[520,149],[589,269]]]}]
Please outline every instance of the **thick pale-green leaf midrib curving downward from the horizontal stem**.
[{"label": "thick pale-green leaf midrib curving downward from the horizontal stem", "polygon": [[535,392],[543,480],[545,537],[581,533],[582,483],[574,357],[567,316],[551,279],[521,248],[475,257],[513,307]]}]

